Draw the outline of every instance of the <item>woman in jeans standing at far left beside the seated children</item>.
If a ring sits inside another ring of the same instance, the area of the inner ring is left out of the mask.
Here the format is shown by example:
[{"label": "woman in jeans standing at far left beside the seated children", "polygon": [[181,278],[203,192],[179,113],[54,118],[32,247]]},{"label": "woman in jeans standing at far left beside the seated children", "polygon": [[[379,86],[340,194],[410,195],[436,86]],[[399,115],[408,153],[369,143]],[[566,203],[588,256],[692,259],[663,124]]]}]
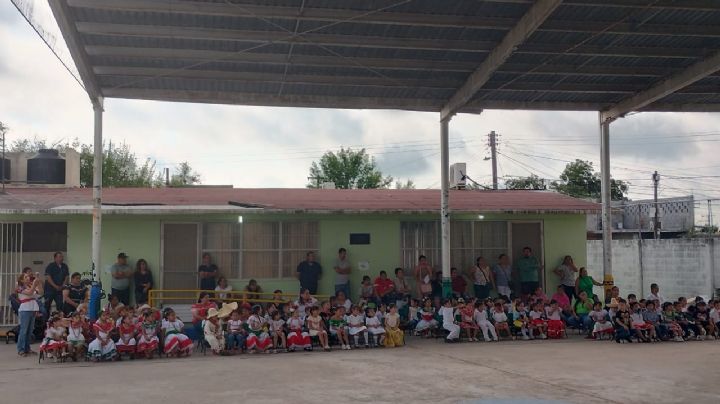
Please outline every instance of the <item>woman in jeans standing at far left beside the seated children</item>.
[{"label": "woman in jeans standing at far left beside the seated children", "polygon": [[18,277],[17,287],[18,301],[18,317],[20,317],[20,333],[17,336],[18,355],[27,356],[35,353],[30,350],[30,339],[32,338],[33,325],[35,324],[35,316],[40,311],[37,299],[42,296],[43,288],[40,274],[35,275],[25,273]]}]

